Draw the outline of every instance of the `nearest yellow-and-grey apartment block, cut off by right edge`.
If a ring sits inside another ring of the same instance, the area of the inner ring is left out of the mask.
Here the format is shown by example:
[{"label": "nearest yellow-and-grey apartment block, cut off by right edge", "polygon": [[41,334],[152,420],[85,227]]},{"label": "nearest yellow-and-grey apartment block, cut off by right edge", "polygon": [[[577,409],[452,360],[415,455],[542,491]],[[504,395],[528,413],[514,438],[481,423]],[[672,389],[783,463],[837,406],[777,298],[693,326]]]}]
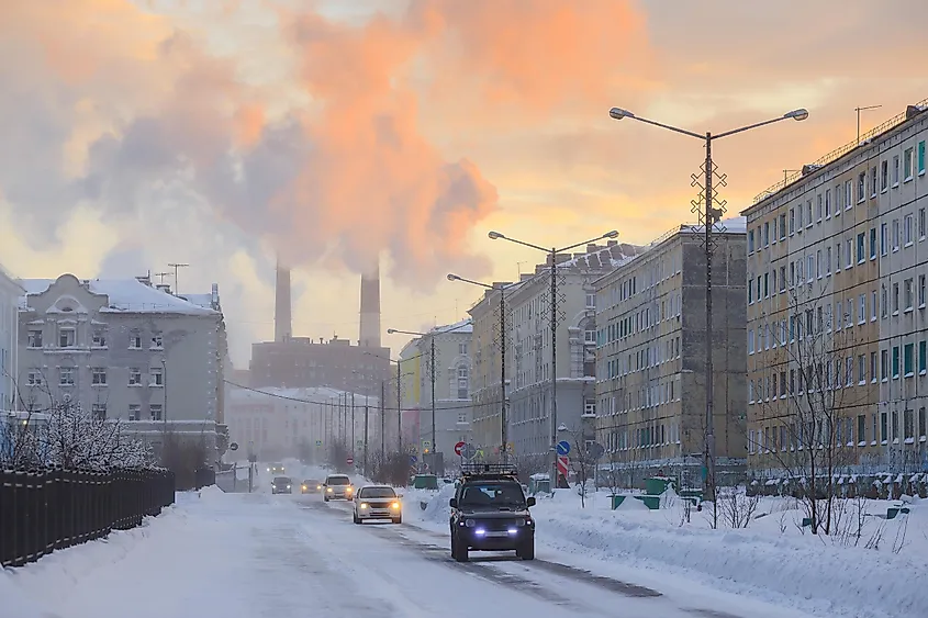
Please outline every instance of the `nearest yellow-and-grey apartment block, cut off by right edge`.
[{"label": "nearest yellow-and-grey apartment block, cut off by right edge", "polygon": [[[748,222],[749,464],[831,446],[842,471],[923,470],[926,106],[774,186]],[[809,393],[821,402],[809,408]]]}]

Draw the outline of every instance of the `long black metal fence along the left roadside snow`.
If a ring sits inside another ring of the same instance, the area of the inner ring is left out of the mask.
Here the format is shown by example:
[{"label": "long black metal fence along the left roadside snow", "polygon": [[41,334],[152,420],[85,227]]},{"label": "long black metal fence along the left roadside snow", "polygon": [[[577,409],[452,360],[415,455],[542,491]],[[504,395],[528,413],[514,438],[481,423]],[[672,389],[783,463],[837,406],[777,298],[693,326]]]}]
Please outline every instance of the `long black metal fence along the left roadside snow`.
[{"label": "long black metal fence along the left roadside snow", "polygon": [[0,470],[0,565],[134,528],[174,496],[168,470]]}]

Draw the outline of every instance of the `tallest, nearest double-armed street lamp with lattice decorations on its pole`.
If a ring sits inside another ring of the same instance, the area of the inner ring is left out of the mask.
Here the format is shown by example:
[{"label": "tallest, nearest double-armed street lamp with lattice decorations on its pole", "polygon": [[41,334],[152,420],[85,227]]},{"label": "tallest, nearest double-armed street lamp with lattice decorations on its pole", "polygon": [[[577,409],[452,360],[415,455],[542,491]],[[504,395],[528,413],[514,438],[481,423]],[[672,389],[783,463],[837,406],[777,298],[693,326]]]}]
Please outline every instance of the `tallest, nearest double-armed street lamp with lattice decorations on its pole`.
[{"label": "tallest, nearest double-armed street lamp with lattice decorations on its pole", "polygon": [[[668,131],[673,131],[674,133],[682,133],[683,135],[689,135],[690,137],[695,137],[696,139],[701,139],[705,144],[706,149],[706,159],[703,164],[702,172],[705,175],[704,179],[701,179],[697,175],[692,176],[692,186],[698,187],[702,192],[700,196],[694,200],[693,203],[693,211],[700,215],[702,220],[701,223],[705,228],[705,239],[703,244],[705,245],[705,259],[706,259],[706,367],[705,367],[705,375],[706,375],[706,434],[705,434],[705,494],[709,497],[713,502],[715,502],[715,429],[713,427],[713,367],[712,367],[712,255],[713,250],[715,249],[715,240],[713,238],[713,228],[715,224],[722,220],[722,215],[725,213],[725,202],[719,203],[719,207],[714,207],[713,199],[714,195],[714,187],[713,187],[713,179],[715,178],[715,167],[712,162],[712,143],[713,139],[720,139],[722,137],[727,137],[729,135],[735,135],[736,133],[743,133],[745,131],[750,131],[752,128],[757,128],[759,126],[764,126],[768,124],[773,124],[774,122],[780,122],[783,120],[795,120],[795,121],[804,121],[808,117],[808,110],[800,108],[797,110],[793,110],[792,112],[786,112],[782,116],[765,120],[763,122],[758,122],[754,124],[749,124],[747,126],[742,126],[739,128],[734,128],[731,131],[726,131],[716,135],[713,135],[711,132],[706,132],[705,135],[700,133],[695,133],[692,131],[687,131],[685,128],[680,128],[677,126],[672,126],[669,124],[663,124],[660,122],[656,122],[652,120],[644,119],[640,116],[636,116],[628,110],[623,110],[622,108],[612,108],[610,110],[610,116],[614,120],[623,120],[623,119],[631,119],[637,120],[638,122],[644,122],[645,124],[652,124],[655,126],[659,126],[661,128],[666,128]],[[719,182],[723,187],[726,186],[725,177],[719,177]],[[703,210],[700,211],[700,200],[703,202]],[[714,510],[713,513],[717,513]],[[717,515],[714,515],[717,517]]]}]

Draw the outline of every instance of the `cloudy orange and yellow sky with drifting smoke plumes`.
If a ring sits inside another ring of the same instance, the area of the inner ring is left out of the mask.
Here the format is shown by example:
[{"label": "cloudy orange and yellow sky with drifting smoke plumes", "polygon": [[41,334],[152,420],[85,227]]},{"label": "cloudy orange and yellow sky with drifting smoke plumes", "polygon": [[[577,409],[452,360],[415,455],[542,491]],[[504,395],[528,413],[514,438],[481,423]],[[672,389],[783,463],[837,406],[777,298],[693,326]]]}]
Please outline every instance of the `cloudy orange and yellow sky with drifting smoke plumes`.
[{"label": "cloudy orange and yellow sky with drifting smoke plumes", "polygon": [[[610,229],[691,223],[716,133],[735,215],[783,170],[928,98],[916,0],[0,0],[0,263],[23,278],[179,271],[219,283],[236,367],[273,334],[358,337],[380,261],[384,344],[466,315]],[[174,284],[174,276],[165,282]]]}]

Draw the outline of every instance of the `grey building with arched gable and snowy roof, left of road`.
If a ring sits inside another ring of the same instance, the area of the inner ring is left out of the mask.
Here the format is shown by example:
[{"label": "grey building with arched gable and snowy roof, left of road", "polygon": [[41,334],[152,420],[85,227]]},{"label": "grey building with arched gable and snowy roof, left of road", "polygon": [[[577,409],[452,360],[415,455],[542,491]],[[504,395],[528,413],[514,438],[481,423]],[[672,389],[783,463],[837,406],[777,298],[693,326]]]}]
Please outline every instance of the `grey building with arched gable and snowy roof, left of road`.
[{"label": "grey building with arched gable and snowy roof, left of road", "polygon": [[216,434],[222,314],[175,296],[148,278],[20,281],[22,407],[72,402],[119,419],[159,446],[165,431]]}]

